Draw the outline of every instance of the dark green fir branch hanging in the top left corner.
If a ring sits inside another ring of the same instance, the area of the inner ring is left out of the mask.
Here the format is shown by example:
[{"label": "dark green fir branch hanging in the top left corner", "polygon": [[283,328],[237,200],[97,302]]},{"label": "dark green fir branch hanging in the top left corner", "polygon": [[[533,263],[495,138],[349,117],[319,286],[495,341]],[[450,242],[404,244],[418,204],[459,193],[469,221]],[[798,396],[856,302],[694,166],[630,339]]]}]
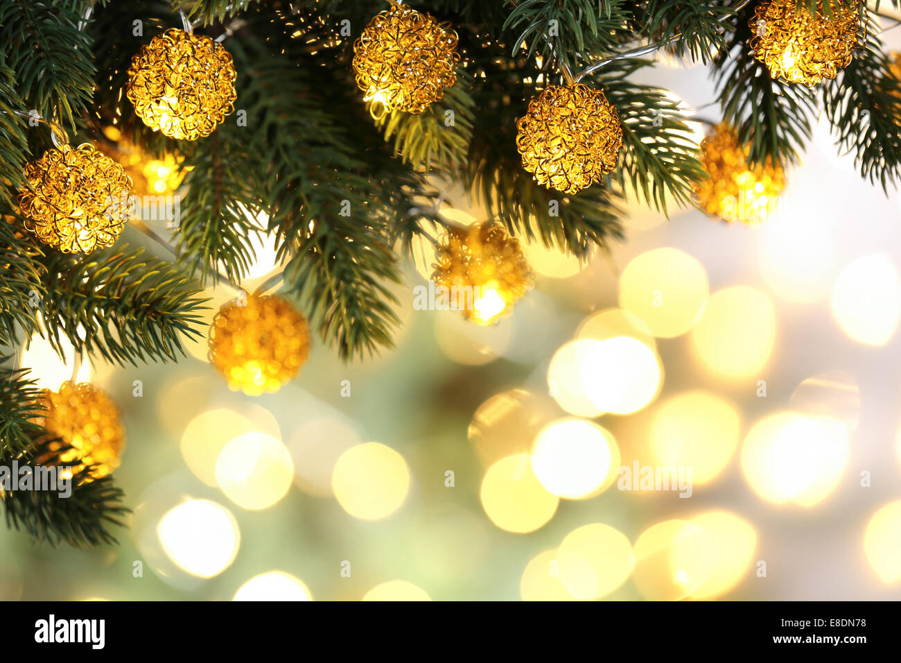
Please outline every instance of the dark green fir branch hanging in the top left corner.
[{"label": "dark green fir branch hanging in the top left corner", "polygon": [[80,15],[66,6],[32,0],[0,3],[0,41],[7,66],[28,109],[75,128],[86,112],[96,70]]}]

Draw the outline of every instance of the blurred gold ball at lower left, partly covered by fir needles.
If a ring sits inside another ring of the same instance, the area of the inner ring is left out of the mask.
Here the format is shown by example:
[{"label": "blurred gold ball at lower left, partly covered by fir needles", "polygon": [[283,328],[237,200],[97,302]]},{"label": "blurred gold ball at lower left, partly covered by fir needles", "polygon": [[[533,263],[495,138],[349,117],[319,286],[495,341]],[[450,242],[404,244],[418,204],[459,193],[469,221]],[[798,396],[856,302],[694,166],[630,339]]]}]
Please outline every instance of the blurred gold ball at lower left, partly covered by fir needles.
[{"label": "blurred gold ball at lower left, partly covered by fir needles", "polygon": [[41,391],[41,401],[46,410],[38,423],[61,440],[50,442],[48,450],[59,453],[59,465],[72,468],[67,478],[87,465],[93,465],[90,479],[106,476],[119,466],[125,428],[119,409],[104,391],[90,382],[63,382],[59,391]]}]

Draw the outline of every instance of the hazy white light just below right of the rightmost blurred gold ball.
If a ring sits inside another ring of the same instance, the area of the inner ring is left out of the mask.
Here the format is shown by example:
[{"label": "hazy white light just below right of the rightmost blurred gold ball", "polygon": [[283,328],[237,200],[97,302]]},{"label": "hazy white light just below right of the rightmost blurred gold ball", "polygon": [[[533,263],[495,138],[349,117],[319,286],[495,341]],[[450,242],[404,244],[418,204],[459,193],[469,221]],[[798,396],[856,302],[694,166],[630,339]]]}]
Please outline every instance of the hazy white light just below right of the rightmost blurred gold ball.
[{"label": "hazy white light just below right of the rightmost blurred gold ball", "polygon": [[822,219],[778,214],[760,233],[760,274],[779,298],[813,304],[829,295],[835,243]]}]

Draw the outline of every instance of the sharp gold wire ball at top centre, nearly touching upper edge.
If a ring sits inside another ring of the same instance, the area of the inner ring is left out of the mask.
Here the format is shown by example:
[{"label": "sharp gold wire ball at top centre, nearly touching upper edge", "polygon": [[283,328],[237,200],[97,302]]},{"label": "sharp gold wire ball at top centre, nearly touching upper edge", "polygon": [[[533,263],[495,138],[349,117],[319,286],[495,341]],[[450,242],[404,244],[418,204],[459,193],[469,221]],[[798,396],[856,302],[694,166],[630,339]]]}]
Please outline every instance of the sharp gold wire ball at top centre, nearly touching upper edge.
[{"label": "sharp gold wire ball at top centre, nearly touching upper edge", "polygon": [[376,118],[397,109],[419,114],[457,82],[457,32],[430,14],[393,6],[353,44],[357,85]]}]

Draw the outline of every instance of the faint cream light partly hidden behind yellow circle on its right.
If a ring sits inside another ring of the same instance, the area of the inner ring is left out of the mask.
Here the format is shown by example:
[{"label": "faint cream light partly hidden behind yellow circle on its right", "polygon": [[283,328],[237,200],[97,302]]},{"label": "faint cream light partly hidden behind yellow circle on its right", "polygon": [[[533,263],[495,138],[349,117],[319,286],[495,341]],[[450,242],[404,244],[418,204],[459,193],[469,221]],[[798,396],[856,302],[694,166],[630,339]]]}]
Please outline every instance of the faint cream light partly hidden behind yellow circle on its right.
[{"label": "faint cream light partly hidden behind yellow circle on its right", "polygon": [[310,419],[288,442],[295,483],[314,497],[332,497],[332,473],[345,451],[359,445],[357,431],[339,419]]}]

